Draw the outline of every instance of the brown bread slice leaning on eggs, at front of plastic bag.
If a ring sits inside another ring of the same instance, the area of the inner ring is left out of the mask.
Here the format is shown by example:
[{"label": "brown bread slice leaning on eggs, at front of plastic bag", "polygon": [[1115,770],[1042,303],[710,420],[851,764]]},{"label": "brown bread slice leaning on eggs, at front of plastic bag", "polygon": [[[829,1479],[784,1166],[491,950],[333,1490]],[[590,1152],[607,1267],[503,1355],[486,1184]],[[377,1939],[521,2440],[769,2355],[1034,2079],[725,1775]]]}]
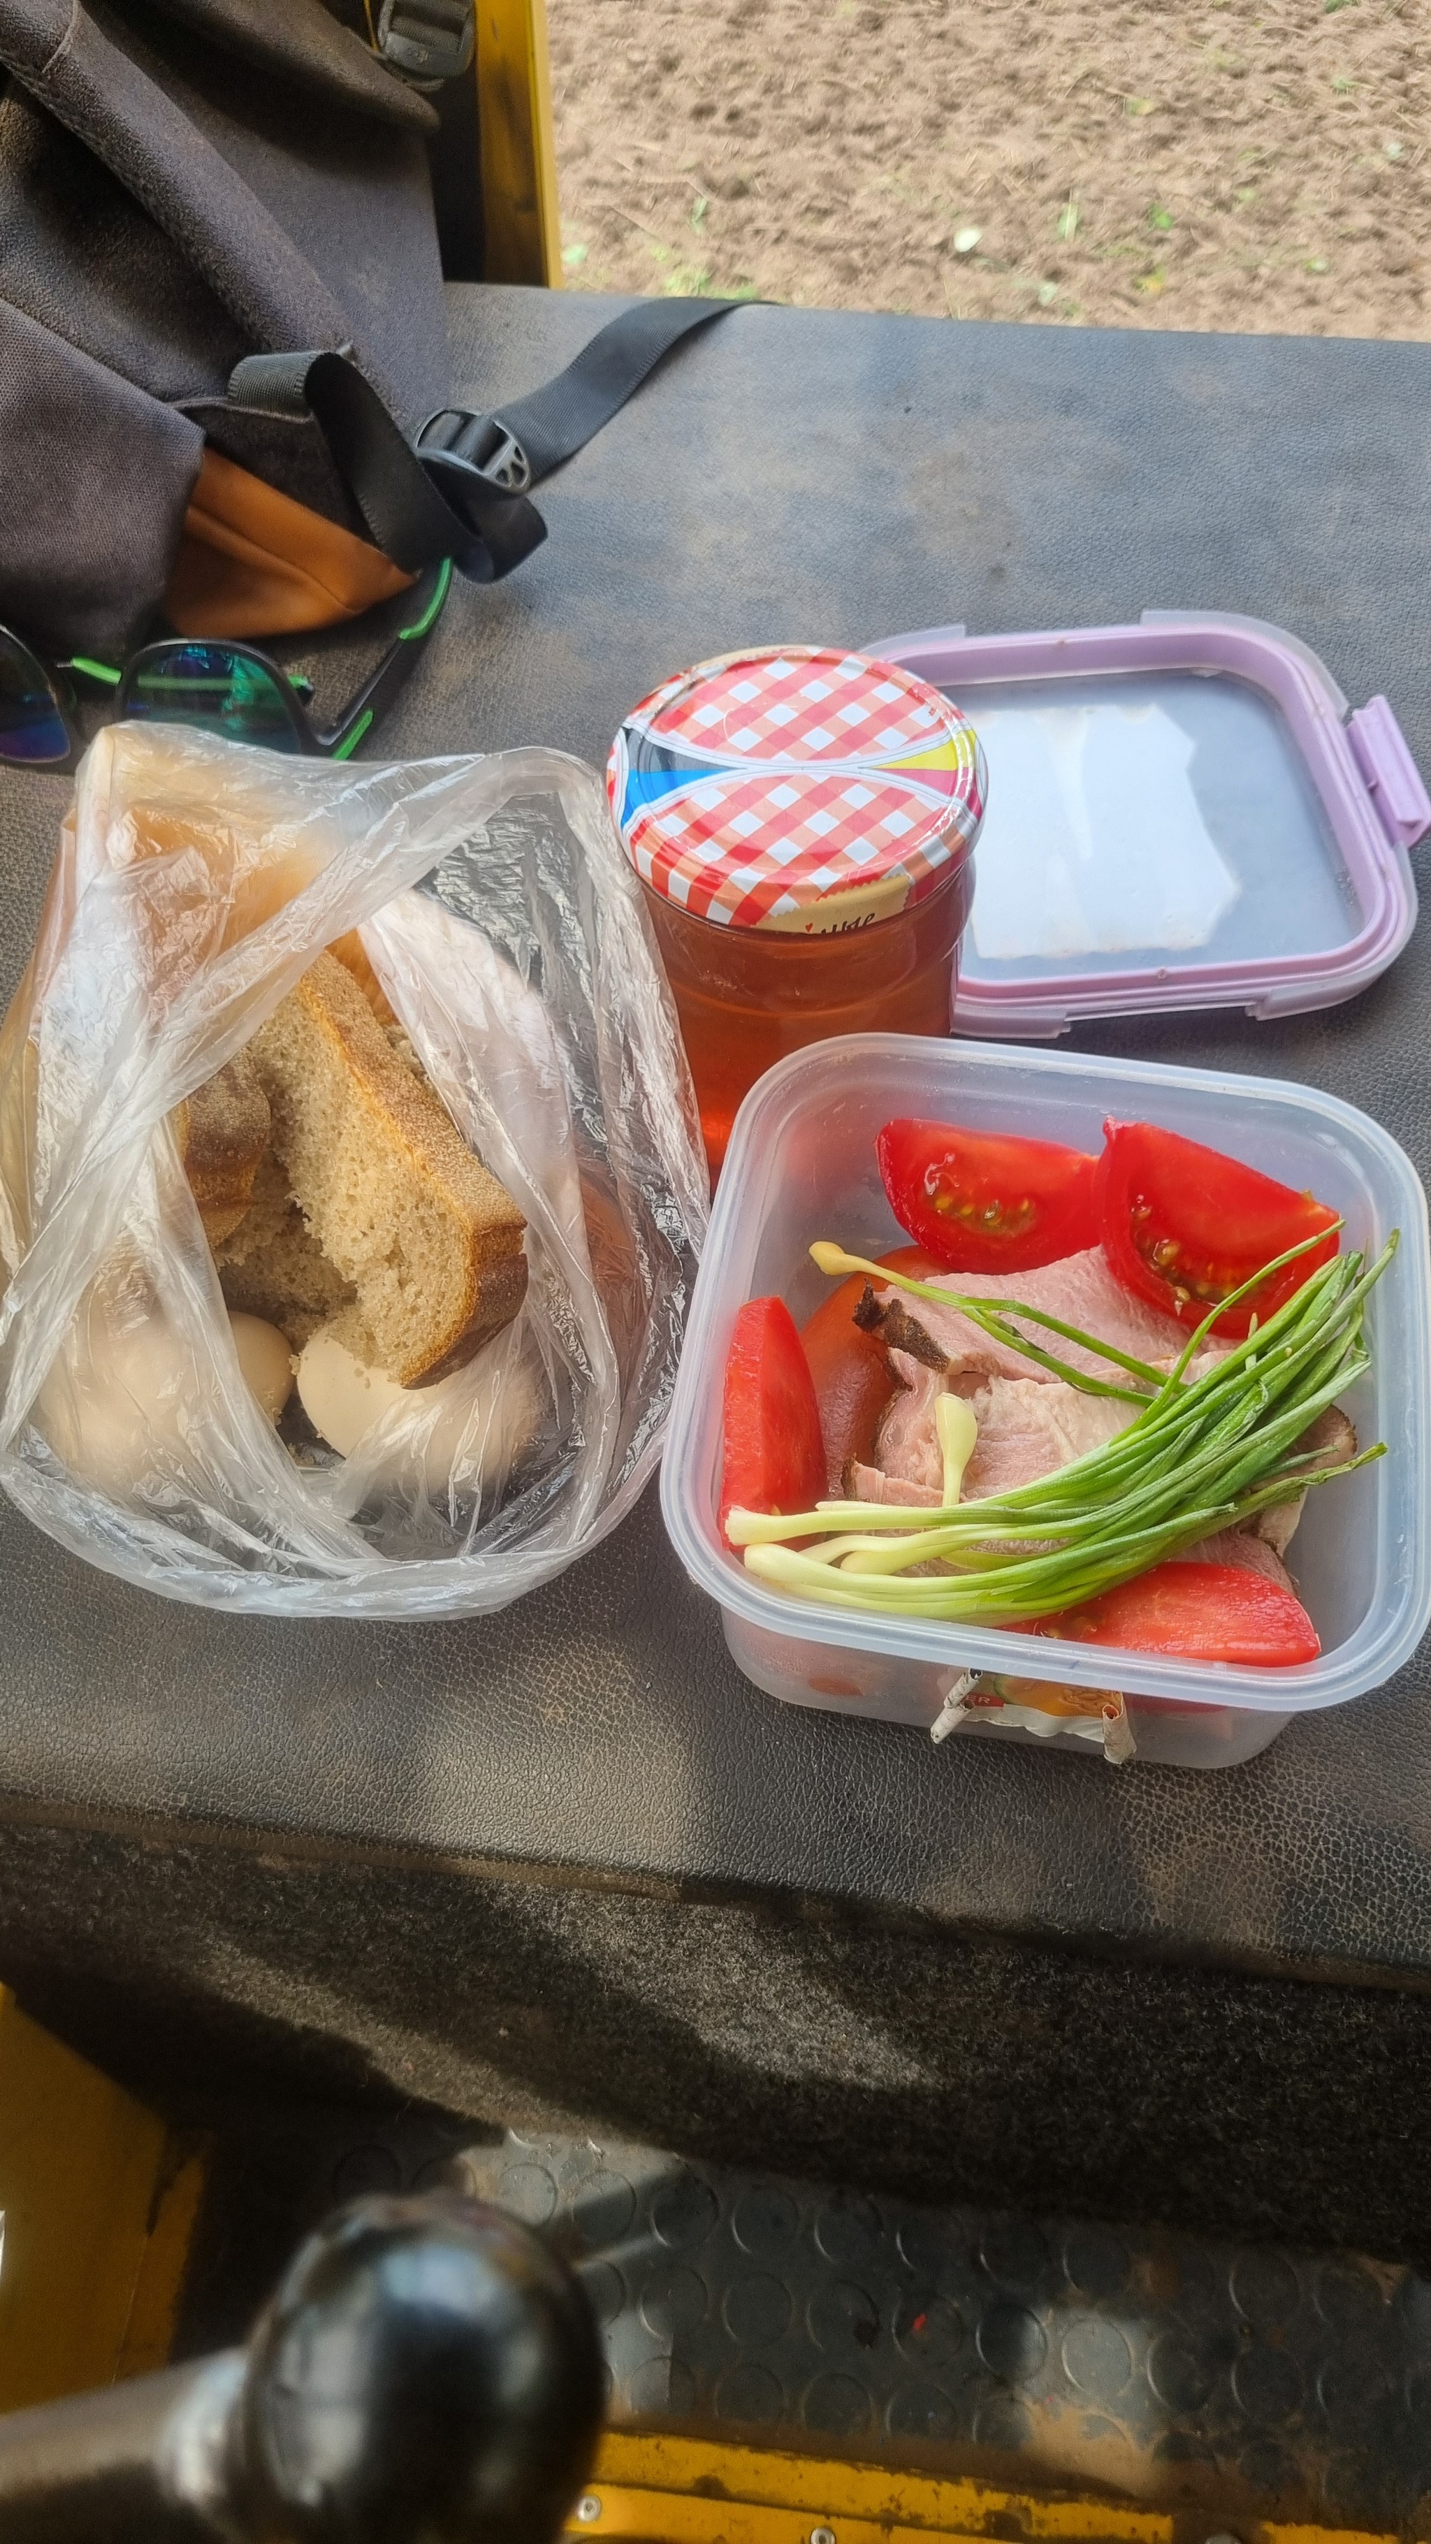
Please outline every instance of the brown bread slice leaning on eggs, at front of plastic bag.
[{"label": "brown bread slice leaning on eggs, at front of plastic bag", "polygon": [[461,1369],[522,1305],[522,1211],[331,954],[250,1051],[288,1193],[351,1282],[377,1366],[402,1386]]}]

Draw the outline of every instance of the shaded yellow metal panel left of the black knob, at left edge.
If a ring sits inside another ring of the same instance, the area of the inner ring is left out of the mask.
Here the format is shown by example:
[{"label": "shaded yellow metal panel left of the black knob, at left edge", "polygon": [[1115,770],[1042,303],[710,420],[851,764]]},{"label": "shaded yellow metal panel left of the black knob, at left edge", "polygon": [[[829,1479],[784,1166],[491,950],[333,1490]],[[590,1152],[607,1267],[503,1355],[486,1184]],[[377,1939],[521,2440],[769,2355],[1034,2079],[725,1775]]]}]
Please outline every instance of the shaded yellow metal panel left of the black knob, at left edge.
[{"label": "shaded yellow metal panel left of the black knob, at left edge", "polygon": [[0,1987],[0,2412],[163,2363],[199,2178]]}]

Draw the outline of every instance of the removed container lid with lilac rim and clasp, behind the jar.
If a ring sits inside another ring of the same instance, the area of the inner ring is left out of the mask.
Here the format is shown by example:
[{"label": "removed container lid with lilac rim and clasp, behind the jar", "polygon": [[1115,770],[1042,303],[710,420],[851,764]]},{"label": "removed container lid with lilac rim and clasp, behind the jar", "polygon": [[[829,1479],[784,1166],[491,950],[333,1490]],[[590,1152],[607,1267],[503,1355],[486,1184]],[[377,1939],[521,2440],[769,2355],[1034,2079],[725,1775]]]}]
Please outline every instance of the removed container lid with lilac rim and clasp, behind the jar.
[{"label": "removed container lid with lilac rim and clasp, behind the jar", "polygon": [[876,649],[973,715],[988,756],[957,1033],[1082,1015],[1304,1015],[1416,926],[1431,796],[1385,697],[1227,611],[1047,636],[924,628]]}]

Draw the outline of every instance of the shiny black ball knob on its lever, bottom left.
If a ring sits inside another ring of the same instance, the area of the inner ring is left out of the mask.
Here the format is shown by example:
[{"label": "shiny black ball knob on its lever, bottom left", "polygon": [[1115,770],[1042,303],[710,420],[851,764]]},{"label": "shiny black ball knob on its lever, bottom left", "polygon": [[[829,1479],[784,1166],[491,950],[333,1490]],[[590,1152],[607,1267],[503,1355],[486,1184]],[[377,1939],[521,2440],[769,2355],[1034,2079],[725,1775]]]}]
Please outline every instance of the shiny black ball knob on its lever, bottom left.
[{"label": "shiny black ball knob on its lever, bottom left", "polygon": [[0,2534],[553,2544],[601,2407],[591,2307],[535,2234],[476,2201],[354,2201],[244,2351],[0,2417]]}]

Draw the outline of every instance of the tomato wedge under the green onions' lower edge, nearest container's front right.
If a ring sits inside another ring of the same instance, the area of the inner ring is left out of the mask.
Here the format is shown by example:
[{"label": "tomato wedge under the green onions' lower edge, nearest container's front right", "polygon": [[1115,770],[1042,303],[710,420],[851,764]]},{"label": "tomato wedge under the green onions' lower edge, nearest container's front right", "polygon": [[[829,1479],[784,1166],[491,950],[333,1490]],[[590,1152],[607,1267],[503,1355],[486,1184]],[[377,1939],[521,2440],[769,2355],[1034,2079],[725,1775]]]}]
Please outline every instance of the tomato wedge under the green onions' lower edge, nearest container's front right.
[{"label": "tomato wedge under the green onions' lower edge, nearest container's front right", "polygon": [[1153,1565],[1082,1608],[1041,1615],[1019,1631],[1064,1643],[1166,1651],[1179,1661],[1240,1661],[1250,1669],[1294,1669],[1322,1651],[1301,1600],[1240,1565]]}]

